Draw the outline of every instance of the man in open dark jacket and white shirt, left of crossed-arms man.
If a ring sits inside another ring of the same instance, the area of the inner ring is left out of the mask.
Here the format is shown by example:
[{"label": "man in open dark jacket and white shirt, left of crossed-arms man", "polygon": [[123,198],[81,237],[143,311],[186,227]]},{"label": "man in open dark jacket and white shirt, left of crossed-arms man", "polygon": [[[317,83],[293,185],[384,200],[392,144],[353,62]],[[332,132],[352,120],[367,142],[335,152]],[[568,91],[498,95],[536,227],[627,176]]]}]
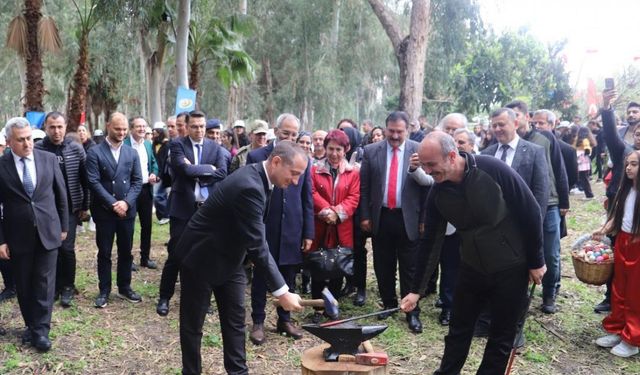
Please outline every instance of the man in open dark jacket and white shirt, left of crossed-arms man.
[{"label": "man in open dark jacket and white shirt, left of crossed-arms man", "polygon": [[[151,142],[145,139],[147,121],[141,116],[129,120],[130,135],[124,139],[124,144],[132,147],[138,153],[140,174],[142,175],[142,189],[136,200],[136,211],[140,219],[140,266],[156,269],[156,262],[149,258],[151,253],[151,220],[153,218],[153,184],[158,182],[158,162],[151,149]],[[132,270],[138,268],[135,263]]]}]

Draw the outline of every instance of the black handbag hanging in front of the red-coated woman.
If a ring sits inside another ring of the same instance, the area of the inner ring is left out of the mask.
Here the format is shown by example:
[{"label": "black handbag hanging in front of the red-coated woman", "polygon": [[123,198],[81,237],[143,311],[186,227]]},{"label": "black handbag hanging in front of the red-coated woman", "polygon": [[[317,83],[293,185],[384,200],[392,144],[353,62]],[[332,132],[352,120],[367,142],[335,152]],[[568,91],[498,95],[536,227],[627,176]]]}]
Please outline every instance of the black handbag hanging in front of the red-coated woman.
[{"label": "black handbag hanging in front of the red-coated woman", "polygon": [[[337,228],[333,226],[337,232]],[[328,237],[329,230],[327,230]],[[335,248],[324,246],[316,251],[305,254],[304,268],[311,272],[311,277],[323,280],[339,279],[353,276],[353,250],[338,245]]]}]

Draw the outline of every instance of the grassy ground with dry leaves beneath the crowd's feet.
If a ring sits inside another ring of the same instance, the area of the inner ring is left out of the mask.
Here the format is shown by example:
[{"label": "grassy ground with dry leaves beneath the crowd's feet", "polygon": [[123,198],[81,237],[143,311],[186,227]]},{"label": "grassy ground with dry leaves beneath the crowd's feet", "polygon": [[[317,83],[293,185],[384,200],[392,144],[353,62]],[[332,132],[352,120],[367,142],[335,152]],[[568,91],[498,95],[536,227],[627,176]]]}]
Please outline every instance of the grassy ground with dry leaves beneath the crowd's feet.
[{"label": "grassy ground with dry leaves beneath the crowd's feet", "polygon": [[[602,196],[602,184],[594,184],[594,190],[597,196]],[[571,265],[570,244],[580,234],[596,228],[602,215],[601,199],[583,201],[572,196],[569,237],[562,240],[563,278],[558,298],[560,311],[550,316],[542,314],[539,311],[541,297],[539,292],[536,293],[526,325],[527,345],[516,358],[513,374],[640,374],[640,357],[619,359],[593,343],[602,334],[600,321],[603,316],[594,314],[592,308],[602,299],[603,288],[579,282]],[[167,237],[168,226],[154,227],[152,258],[160,264],[166,258],[164,242]],[[134,249],[136,261],[139,261],[139,253]],[[168,317],[161,318],[155,313],[160,271],[142,269],[134,273],[133,287],[144,298],[141,304],[132,305],[114,297],[106,309],[95,309],[95,255],[92,234],[79,234],[77,287],[80,294],[72,308],[62,309],[56,304],[51,330],[53,348],[49,353],[39,354],[20,344],[24,324],[15,300],[0,305],[0,324],[8,330],[7,335],[0,337],[1,374],[180,372],[178,301],[172,301]],[[374,298],[376,293],[372,274],[369,280],[370,298],[367,304],[354,307],[349,299],[345,299],[341,306],[343,316],[368,313],[379,308]],[[422,334],[409,333],[403,314],[399,314],[388,319],[387,331],[373,340],[376,347],[389,354],[390,373],[427,374],[437,368],[447,330],[437,323],[439,310],[433,307],[434,300],[435,297],[430,296],[422,303]],[[299,374],[301,353],[320,341],[311,335],[305,335],[298,341],[277,335],[275,312],[271,307],[269,309],[268,343],[260,347],[250,342],[247,344],[251,373]],[[299,322],[304,322],[310,314],[308,310],[295,317]],[[247,318],[250,324],[249,316]],[[475,373],[484,344],[482,339],[474,340],[463,374]],[[202,355],[204,373],[224,373],[222,340],[215,314],[207,317]]]}]

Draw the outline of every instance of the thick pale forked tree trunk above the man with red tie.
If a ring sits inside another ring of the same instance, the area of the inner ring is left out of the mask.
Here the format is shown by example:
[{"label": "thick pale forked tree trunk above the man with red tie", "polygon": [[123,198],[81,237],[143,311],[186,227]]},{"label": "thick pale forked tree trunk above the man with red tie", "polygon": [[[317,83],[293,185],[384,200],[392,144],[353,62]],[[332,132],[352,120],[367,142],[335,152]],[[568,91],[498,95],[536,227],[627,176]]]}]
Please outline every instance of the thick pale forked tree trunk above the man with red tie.
[{"label": "thick pale forked tree trunk above the man with red tie", "polygon": [[422,110],[424,89],[424,64],[430,29],[431,1],[413,0],[409,35],[402,36],[392,12],[382,0],[369,0],[387,36],[400,68],[399,109],[407,112],[410,120],[417,120]]}]

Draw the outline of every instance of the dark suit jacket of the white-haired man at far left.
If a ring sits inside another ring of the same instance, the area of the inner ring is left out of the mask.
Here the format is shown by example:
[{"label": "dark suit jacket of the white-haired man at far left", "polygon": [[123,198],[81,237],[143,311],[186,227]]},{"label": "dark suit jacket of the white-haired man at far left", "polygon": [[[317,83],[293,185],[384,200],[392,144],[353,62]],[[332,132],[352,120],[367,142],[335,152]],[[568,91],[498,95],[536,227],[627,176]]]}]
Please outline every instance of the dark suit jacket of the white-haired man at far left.
[{"label": "dark suit jacket of the white-haired man at far left", "polygon": [[[61,233],[69,230],[67,189],[58,158],[34,149],[36,188],[29,198],[20,181],[11,152],[0,157],[0,244],[13,254],[33,251],[34,238],[25,238],[24,228],[37,227],[42,246],[54,250],[62,244]],[[31,236],[33,237],[33,236]]]}]

